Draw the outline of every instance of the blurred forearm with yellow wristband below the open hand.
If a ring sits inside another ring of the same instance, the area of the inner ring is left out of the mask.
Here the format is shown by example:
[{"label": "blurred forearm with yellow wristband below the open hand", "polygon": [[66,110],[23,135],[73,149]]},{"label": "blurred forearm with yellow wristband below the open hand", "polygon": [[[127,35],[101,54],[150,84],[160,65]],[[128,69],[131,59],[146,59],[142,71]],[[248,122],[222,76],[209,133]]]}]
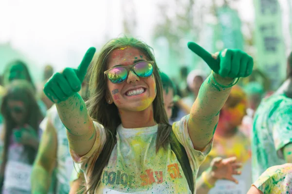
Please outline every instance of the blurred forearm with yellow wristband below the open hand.
[{"label": "blurred forearm with yellow wristband below the open hand", "polygon": [[211,170],[207,169],[196,180],[197,194],[208,194],[216,183],[217,179],[212,177]]}]

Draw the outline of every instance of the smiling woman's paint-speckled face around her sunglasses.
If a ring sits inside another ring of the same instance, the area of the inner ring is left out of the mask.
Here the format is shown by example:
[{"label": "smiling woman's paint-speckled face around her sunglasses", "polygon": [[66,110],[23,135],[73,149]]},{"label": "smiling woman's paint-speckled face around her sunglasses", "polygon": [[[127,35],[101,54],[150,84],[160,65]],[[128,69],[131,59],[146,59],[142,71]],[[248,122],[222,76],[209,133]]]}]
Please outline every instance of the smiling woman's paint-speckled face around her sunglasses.
[{"label": "smiling woman's paint-speckled face around her sunglasses", "polygon": [[[115,49],[110,53],[108,68],[116,65],[133,65],[139,61],[147,61],[143,52],[132,47]],[[138,77],[133,71],[129,71],[128,78],[122,83],[112,83],[107,79],[108,94],[107,100],[124,111],[143,111],[148,108],[156,97],[156,84],[154,75],[148,78]],[[130,92],[141,92],[142,94],[131,95]]]}]

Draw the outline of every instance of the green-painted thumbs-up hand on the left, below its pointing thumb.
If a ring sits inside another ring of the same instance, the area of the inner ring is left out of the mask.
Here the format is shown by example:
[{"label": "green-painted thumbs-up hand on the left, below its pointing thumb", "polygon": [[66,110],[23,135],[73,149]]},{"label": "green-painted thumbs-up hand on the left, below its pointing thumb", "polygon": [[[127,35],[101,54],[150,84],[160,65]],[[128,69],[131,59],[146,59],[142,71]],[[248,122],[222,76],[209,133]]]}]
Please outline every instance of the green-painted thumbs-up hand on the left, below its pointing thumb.
[{"label": "green-painted thumbs-up hand on the left, below its pointing thumb", "polygon": [[63,72],[55,73],[44,86],[45,95],[54,103],[58,103],[78,92],[94,53],[95,48],[89,48],[77,69],[67,67]]}]

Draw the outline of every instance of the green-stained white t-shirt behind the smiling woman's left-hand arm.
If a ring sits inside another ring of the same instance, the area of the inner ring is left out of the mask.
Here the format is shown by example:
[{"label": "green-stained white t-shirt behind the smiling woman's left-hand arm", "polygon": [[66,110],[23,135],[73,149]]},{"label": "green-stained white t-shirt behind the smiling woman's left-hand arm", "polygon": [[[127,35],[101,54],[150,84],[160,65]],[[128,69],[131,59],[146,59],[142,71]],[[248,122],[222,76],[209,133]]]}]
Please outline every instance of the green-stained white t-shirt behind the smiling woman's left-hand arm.
[{"label": "green-stained white t-shirt behind the smiling woman's left-hand arm", "polygon": [[47,116],[40,124],[45,129],[48,119],[51,120],[57,134],[57,194],[68,194],[70,191],[70,178],[74,169],[73,160],[69,152],[69,143],[66,128],[58,115],[56,106],[53,105],[47,112]]}]

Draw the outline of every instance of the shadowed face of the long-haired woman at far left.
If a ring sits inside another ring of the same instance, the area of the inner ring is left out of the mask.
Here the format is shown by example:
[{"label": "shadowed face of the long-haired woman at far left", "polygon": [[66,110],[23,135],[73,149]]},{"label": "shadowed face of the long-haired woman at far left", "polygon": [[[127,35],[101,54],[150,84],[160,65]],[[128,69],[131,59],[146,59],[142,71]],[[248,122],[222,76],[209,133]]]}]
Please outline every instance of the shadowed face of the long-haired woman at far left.
[{"label": "shadowed face of the long-haired woman at far left", "polygon": [[22,101],[8,100],[8,111],[10,112],[12,119],[18,125],[21,125],[24,123],[26,110],[25,110],[25,105]]}]

